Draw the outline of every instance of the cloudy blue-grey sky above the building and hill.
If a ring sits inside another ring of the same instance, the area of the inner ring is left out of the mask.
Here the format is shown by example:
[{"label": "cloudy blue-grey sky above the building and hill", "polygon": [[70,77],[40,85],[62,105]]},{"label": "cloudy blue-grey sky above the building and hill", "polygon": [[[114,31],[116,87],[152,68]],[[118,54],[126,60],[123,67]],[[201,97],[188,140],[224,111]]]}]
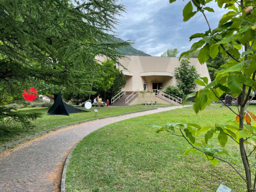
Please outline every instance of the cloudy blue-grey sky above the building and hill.
[{"label": "cloudy blue-grey sky above the building and hill", "polygon": [[[127,12],[119,18],[117,36],[123,40],[132,40],[134,48],[152,56],[160,56],[169,48],[177,48],[180,53],[190,49],[195,41],[189,37],[208,30],[204,16],[198,12],[189,21],[183,22],[182,10],[188,0],[120,0]],[[219,9],[215,1],[209,3],[215,13],[205,12],[214,29],[227,10]]]}]

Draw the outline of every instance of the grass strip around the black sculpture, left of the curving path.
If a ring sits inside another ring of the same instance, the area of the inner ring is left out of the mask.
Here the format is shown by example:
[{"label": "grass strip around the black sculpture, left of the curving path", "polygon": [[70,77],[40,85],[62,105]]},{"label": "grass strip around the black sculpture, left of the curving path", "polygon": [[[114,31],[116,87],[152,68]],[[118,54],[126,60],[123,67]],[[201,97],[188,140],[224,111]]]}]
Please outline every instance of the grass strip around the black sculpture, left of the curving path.
[{"label": "grass strip around the black sculpture, left of the curving path", "polygon": [[[32,112],[38,112],[43,113],[43,116],[41,118],[36,119],[32,122],[34,127],[25,129],[20,128],[20,126],[13,126],[12,129],[9,129],[9,133],[0,134],[0,146],[5,145],[6,143],[19,140],[20,138],[29,136],[31,134],[36,134],[41,131],[54,128],[60,125],[65,125],[73,122],[79,122],[86,119],[93,119],[95,118],[95,112],[94,109],[97,109],[98,116],[110,116],[110,115],[116,115],[120,113],[126,113],[130,111],[140,111],[145,110],[143,107],[93,107],[90,110],[89,113],[73,113],[70,114],[70,116],[64,116],[64,115],[47,115],[47,111],[49,108],[25,108],[25,109],[19,109],[20,113],[32,113]],[[81,108],[83,110],[86,110],[85,108]]]}]

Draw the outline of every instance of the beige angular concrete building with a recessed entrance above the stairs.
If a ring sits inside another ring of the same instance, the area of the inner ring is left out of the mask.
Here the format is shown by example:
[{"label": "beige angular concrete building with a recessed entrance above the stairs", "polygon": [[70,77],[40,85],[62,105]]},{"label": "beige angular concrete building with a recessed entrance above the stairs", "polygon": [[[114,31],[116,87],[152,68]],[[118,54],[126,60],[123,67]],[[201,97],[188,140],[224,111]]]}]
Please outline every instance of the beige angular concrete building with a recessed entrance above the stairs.
[{"label": "beige angular concrete building with a recessed entrance above the stairs", "polygon": [[[103,57],[98,57],[99,61],[104,61]],[[176,57],[155,57],[155,56],[133,56],[127,55],[119,62],[119,66],[125,75],[126,85],[123,89],[127,92],[143,90],[143,83],[146,82],[146,90],[164,89],[167,85],[175,85],[175,67],[180,66],[179,58]],[[198,58],[190,59],[191,65],[194,65],[201,77],[207,77],[210,82],[210,76],[206,64],[201,65]],[[195,90],[201,89],[199,86]]]}]

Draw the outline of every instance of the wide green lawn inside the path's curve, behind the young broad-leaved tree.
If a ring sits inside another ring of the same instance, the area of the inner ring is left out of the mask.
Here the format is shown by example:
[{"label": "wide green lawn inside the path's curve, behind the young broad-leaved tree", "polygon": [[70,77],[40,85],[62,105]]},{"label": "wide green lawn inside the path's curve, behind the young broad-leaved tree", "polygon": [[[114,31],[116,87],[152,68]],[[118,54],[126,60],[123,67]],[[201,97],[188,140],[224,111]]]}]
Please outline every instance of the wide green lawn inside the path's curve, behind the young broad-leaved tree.
[{"label": "wide green lawn inside the path's curve, behind the young broad-leaved tree", "polygon": [[[76,146],[67,167],[67,191],[216,191],[222,183],[245,191],[243,180],[226,163],[214,167],[201,153],[183,155],[183,138],[156,133],[152,124],[194,122],[215,125],[235,119],[227,110],[176,109],[116,122],[94,131]],[[216,136],[212,142],[217,143]],[[218,147],[218,146],[217,146]],[[241,170],[238,145],[228,140],[230,156]],[[243,171],[241,171],[244,173]]]}]

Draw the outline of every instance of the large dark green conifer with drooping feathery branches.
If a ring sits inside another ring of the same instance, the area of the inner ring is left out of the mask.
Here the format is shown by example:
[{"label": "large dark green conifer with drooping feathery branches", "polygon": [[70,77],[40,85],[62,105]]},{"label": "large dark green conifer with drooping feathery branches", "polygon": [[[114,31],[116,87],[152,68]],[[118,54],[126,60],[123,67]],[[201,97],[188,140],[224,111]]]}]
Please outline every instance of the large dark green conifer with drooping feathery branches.
[{"label": "large dark green conifer with drooping feathery branches", "polygon": [[[128,42],[113,34],[124,6],[116,0],[1,0],[0,87],[21,96],[24,88],[54,87],[87,93],[100,78],[96,55],[118,63]],[[43,92],[42,92],[43,93]]]}]

